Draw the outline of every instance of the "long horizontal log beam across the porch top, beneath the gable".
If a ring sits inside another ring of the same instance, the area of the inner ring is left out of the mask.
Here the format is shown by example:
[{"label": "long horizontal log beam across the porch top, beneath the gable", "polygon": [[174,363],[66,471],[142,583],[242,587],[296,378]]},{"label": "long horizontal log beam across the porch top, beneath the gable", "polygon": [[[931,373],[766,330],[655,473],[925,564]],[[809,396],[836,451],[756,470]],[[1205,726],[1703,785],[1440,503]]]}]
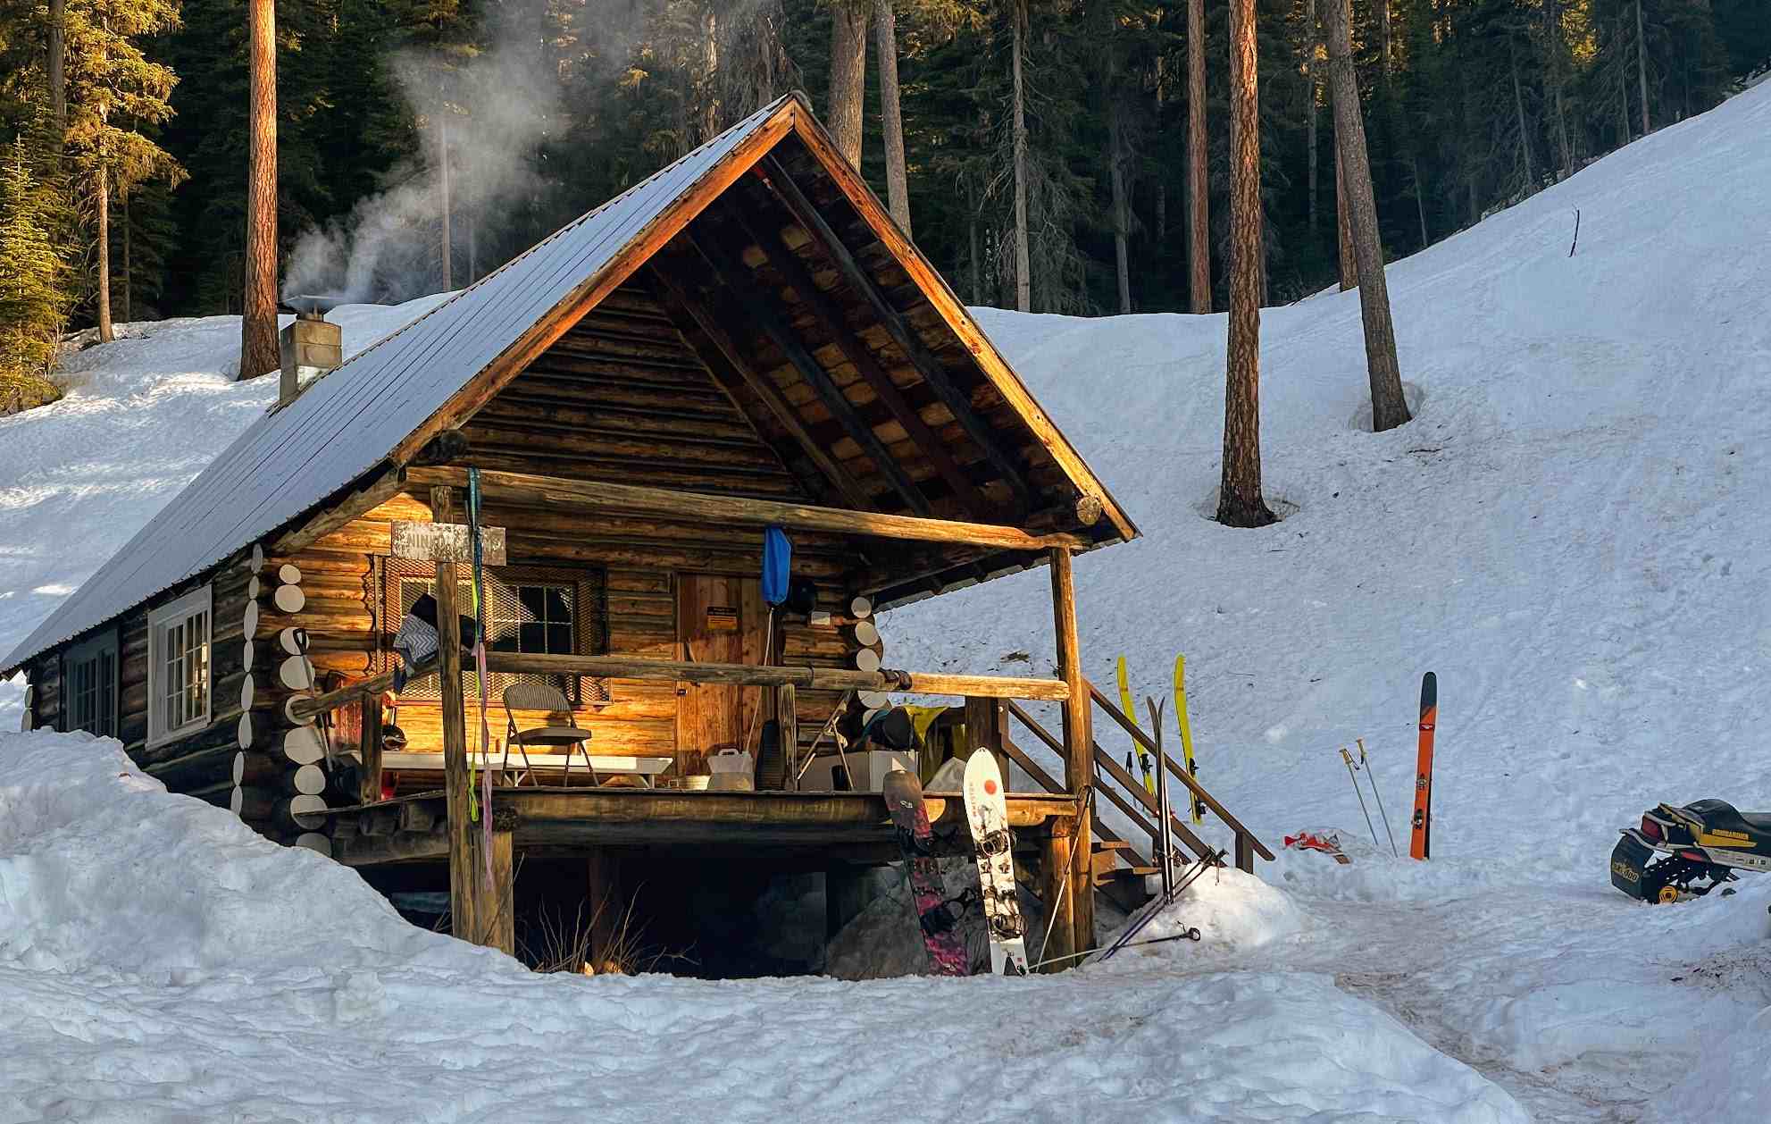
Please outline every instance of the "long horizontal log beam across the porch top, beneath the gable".
[{"label": "long horizontal log beam across the porch top, beneath the gable", "polygon": [[[409,468],[414,484],[462,486],[464,468]],[[910,539],[919,542],[958,542],[995,550],[1050,550],[1054,546],[1086,550],[1089,542],[1079,535],[1036,535],[1018,527],[997,523],[962,523],[955,519],[924,519],[871,511],[843,511],[811,503],[781,500],[746,500],[715,496],[671,488],[645,488],[639,484],[609,484],[604,480],[567,480],[519,472],[480,472],[480,486],[491,503],[521,503],[528,507],[581,507],[595,511],[632,511],[680,519],[705,519],[749,527],[785,527],[788,530],[824,530],[845,535],[880,539]]]}]

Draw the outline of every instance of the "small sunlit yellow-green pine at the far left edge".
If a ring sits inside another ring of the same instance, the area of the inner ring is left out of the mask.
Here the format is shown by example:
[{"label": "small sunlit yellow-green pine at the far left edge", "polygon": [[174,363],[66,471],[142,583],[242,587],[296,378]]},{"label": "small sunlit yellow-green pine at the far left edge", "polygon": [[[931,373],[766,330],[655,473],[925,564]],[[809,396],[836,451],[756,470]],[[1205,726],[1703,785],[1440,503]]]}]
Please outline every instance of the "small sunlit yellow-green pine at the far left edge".
[{"label": "small sunlit yellow-green pine at the far left edge", "polygon": [[0,417],[60,397],[46,376],[71,301],[69,264],[46,222],[51,207],[21,137],[0,167]]}]

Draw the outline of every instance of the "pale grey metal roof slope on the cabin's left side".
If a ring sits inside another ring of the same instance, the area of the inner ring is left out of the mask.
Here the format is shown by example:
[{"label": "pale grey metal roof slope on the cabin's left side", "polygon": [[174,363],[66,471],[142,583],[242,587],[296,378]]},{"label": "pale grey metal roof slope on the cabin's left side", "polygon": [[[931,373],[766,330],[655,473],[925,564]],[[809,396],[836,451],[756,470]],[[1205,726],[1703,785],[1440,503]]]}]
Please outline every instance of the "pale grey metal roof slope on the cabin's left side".
[{"label": "pale grey metal roof slope on the cabin's left side", "polygon": [[0,670],[202,574],[377,466],[793,98],[746,117],[259,418],[0,660]]}]

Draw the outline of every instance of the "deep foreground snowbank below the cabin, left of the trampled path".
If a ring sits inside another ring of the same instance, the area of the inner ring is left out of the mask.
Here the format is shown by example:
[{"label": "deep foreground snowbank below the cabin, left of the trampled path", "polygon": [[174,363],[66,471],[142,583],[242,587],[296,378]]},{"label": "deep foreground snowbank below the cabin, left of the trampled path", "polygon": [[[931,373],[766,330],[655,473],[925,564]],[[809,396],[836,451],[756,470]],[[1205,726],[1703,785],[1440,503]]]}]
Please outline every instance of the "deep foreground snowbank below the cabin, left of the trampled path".
[{"label": "deep foreground snowbank below the cabin, left of the trampled path", "polygon": [[0,734],[0,1122],[1525,1120],[1314,973],[530,975],[80,734]]}]

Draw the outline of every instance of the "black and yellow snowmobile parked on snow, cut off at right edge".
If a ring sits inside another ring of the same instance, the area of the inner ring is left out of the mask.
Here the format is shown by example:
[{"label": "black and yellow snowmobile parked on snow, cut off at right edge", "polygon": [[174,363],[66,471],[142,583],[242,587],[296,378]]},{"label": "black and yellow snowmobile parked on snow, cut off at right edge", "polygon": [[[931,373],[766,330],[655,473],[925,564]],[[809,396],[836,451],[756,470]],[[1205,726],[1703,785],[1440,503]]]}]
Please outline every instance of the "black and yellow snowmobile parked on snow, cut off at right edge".
[{"label": "black and yellow snowmobile parked on snow, cut off at right edge", "polygon": [[1771,870],[1771,812],[1736,812],[1721,800],[1663,803],[1612,849],[1612,885],[1645,902],[1709,894],[1736,870]]}]

